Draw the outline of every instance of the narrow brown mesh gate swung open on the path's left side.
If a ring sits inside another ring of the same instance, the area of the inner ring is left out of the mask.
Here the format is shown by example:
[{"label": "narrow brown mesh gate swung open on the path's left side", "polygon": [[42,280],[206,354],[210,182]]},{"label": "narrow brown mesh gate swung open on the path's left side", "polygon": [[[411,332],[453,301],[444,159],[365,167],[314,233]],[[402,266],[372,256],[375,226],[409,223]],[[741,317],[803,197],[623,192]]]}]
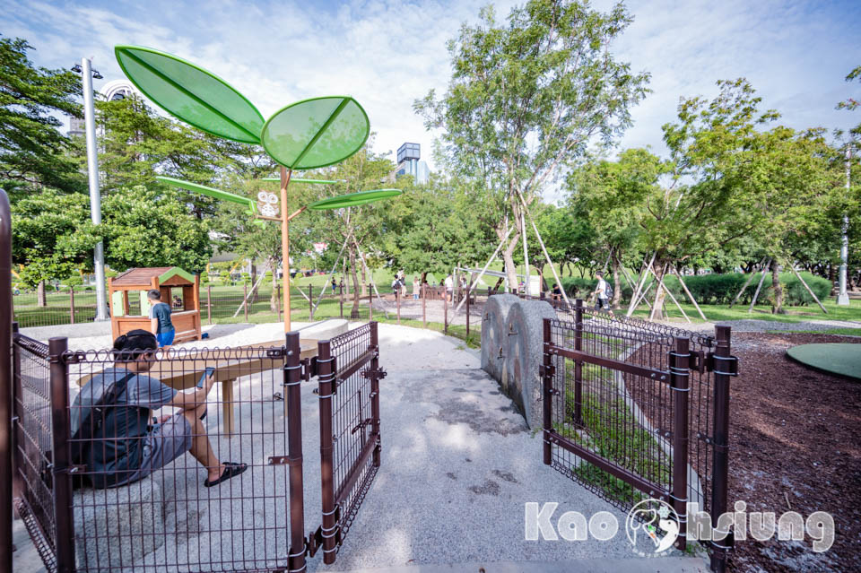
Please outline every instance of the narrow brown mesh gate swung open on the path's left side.
[{"label": "narrow brown mesh gate swung open on the path's left side", "polygon": [[334,563],[380,464],[377,323],[319,343],[324,562]]}]

